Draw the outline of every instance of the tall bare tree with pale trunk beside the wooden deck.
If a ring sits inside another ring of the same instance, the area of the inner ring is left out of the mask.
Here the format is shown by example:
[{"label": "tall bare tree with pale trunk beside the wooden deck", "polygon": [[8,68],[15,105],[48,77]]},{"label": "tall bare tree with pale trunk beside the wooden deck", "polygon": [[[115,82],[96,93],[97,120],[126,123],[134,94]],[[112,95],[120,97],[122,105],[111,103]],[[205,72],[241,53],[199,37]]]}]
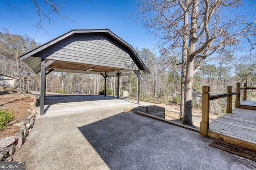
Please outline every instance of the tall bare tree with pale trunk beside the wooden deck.
[{"label": "tall bare tree with pale trunk beside the wooden deck", "polygon": [[256,21],[230,15],[242,5],[241,0],[142,0],[136,4],[138,20],[160,38],[162,54],[182,51],[182,64],[186,66],[183,123],[192,125],[194,74],[220,47],[235,47],[242,38],[255,43]]}]

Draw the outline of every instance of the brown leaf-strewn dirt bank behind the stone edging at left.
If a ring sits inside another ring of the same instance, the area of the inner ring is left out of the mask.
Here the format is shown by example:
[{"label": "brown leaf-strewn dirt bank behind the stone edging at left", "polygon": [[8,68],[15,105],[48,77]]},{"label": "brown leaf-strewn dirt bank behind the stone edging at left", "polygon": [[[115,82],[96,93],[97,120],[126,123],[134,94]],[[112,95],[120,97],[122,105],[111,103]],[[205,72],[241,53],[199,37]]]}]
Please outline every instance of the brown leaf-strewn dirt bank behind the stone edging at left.
[{"label": "brown leaf-strewn dirt bank behind the stone edging at left", "polygon": [[0,138],[12,136],[20,132],[20,127],[11,125],[13,122],[26,119],[29,115],[30,103],[34,101],[34,97],[30,93],[21,92],[11,87],[0,87],[0,110],[7,109],[13,112],[14,119],[8,124],[9,127],[0,131]]}]

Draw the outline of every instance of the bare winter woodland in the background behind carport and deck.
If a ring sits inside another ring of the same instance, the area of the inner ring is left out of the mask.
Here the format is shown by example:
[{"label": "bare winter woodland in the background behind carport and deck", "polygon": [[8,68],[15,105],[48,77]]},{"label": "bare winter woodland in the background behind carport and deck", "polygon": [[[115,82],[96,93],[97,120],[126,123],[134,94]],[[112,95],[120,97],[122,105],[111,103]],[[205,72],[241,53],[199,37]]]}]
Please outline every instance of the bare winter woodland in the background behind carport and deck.
[{"label": "bare winter woodland in the background behind carport and deck", "polygon": [[[15,76],[17,88],[40,91],[40,74],[33,74],[19,61],[22,53],[36,46],[38,43],[26,35],[14,35],[7,29],[0,33],[0,73]],[[180,103],[181,65],[176,63],[181,63],[181,57],[159,57],[148,48],[136,48],[136,51],[150,69],[150,74],[141,76],[141,100]],[[175,62],[170,62],[170,58]],[[55,93],[72,94],[79,91],[80,94],[100,94],[104,89],[104,78],[101,75],[51,72],[46,81],[46,90]],[[130,98],[136,98],[136,82],[136,76],[122,76],[121,96],[126,90]],[[226,92],[227,86],[235,89],[236,82],[246,82],[248,86],[256,87],[256,54],[234,56],[230,51],[219,50],[194,75],[192,93],[200,94],[202,86],[208,85],[211,88],[210,94],[220,94]],[[116,95],[116,90],[117,78],[107,78],[107,94]],[[248,94],[248,99],[253,99],[253,92]],[[225,103],[214,100],[211,103],[212,114],[223,112]],[[200,108],[200,100],[193,101],[192,105]]]}]

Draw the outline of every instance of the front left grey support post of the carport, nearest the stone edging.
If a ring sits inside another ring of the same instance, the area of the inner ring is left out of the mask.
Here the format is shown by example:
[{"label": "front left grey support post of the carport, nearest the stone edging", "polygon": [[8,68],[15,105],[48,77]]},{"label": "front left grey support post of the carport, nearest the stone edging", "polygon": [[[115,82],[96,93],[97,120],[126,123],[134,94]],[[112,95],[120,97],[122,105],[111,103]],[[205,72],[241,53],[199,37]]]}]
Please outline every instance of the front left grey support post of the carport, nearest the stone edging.
[{"label": "front left grey support post of the carport, nearest the stone edging", "polygon": [[45,88],[46,88],[45,59],[41,62],[41,89],[40,89],[40,115],[44,115]]}]

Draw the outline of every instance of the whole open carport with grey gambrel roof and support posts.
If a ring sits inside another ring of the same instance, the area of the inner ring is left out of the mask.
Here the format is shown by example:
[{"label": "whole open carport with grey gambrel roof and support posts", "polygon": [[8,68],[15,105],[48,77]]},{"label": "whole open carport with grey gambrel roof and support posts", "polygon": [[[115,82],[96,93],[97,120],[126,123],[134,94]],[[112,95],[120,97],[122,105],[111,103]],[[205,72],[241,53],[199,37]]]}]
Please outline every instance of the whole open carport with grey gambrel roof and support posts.
[{"label": "whole open carport with grey gambrel roof and support posts", "polygon": [[52,71],[101,74],[117,77],[137,76],[137,103],[140,103],[140,74],[149,70],[134,48],[110,29],[72,29],[20,56],[35,74],[41,72],[40,115],[44,115],[46,76]]}]

